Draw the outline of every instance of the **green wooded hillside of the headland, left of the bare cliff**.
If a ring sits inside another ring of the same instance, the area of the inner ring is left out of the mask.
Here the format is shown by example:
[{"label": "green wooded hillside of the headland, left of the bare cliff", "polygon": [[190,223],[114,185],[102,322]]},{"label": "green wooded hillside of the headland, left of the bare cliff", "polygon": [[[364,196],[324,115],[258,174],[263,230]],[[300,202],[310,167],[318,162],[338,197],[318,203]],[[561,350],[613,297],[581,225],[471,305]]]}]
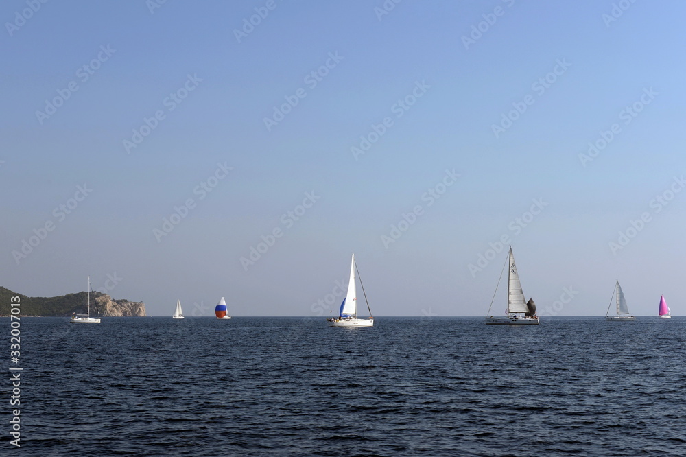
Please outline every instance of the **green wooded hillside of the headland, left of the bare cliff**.
[{"label": "green wooded hillside of the headland, left of the bare cliff", "polygon": [[[100,292],[91,292],[91,314],[97,314],[95,297],[101,296]],[[10,298],[21,298],[20,316],[71,316],[72,313],[85,314],[88,294],[67,294],[53,297],[30,297],[12,292],[8,288],[0,286],[0,315],[10,314]]]}]

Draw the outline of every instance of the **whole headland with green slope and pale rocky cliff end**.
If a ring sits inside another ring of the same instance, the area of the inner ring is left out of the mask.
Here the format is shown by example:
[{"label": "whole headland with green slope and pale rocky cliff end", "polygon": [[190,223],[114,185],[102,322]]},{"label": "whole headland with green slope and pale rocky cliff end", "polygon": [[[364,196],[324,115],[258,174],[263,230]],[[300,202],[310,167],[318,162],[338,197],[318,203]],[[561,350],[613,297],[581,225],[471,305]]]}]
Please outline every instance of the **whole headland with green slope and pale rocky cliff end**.
[{"label": "whole headland with green slope and pale rocky cliff end", "polygon": [[[86,314],[88,294],[67,294],[53,297],[30,297],[16,294],[0,286],[0,316],[10,315],[10,298],[19,296],[20,316],[61,317],[71,314]],[[91,292],[91,316],[103,317],[145,317],[145,303],[142,301],[113,300],[108,294]]]}]

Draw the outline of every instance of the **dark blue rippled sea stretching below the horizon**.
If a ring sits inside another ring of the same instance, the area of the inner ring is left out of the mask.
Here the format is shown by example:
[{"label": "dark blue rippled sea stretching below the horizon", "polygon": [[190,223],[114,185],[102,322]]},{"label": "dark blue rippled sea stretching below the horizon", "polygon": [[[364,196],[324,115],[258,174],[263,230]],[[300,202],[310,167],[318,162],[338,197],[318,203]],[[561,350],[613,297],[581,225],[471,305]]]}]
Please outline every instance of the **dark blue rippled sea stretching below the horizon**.
[{"label": "dark blue rippled sea stretching below the horizon", "polygon": [[686,318],[22,318],[21,332],[21,448],[5,380],[4,455],[686,454]]}]

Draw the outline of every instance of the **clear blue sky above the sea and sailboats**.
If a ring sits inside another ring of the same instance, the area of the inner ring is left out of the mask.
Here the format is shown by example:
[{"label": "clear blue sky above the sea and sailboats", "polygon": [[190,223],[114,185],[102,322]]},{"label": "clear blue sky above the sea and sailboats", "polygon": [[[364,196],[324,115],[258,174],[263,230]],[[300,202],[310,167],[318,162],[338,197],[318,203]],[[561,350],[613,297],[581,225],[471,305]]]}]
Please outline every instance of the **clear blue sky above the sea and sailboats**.
[{"label": "clear blue sky above the sea and sailboats", "polygon": [[155,4],[0,6],[0,285],[323,316],[355,252],[375,315],[482,316],[506,235],[543,316],[684,313],[683,2]]}]

